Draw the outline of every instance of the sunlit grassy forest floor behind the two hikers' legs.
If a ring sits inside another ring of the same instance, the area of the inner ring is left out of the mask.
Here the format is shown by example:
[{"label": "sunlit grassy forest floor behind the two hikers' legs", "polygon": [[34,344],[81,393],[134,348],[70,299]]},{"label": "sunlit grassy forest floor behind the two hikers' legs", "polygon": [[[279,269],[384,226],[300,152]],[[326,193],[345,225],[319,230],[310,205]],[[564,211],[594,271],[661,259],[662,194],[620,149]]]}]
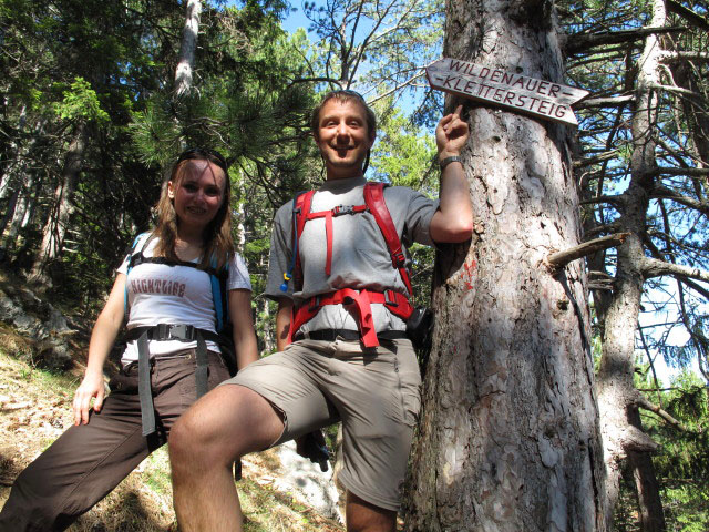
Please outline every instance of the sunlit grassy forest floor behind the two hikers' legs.
[{"label": "sunlit grassy forest floor behind the two hikers' legs", "polygon": [[[80,362],[68,371],[33,367],[31,357],[22,356],[29,350],[27,340],[0,326],[0,507],[18,473],[71,426],[73,390],[83,375]],[[279,462],[273,451],[249,454],[243,460],[243,468],[244,478],[237,487],[246,532],[345,530],[292,493],[274,487]],[[109,497],[69,529],[70,532],[176,530],[165,448],[145,459]]]}]

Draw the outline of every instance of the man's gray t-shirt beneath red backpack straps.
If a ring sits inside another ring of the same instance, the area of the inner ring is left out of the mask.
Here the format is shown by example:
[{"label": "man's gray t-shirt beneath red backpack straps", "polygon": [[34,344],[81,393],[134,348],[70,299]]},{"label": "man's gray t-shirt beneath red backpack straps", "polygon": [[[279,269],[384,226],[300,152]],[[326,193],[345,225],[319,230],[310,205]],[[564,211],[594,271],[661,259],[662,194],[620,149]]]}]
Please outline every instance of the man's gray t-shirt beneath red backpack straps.
[{"label": "man's gray t-shirt beneath red backpack straps", "polygon": [[[343,206],[363,205],[364,177],[328,181],[312,196],[311,213],[330,211]],[[384,188],[384,201],[397,227],[405,252],[413,242],[432,245],[429,234],[431,218],[438,202],[403,186]],[[284,273],[288,270],[292,256],[292,202],[276,213],[270,242],[268,284],[265,295],[273,299],[292,298],[296,304],[319,294],[330,294],[340,288],[383,291],[393,289],[407,294],[398,269],[391,264],[387,243],[371,213],[345,214],[332,217],[332,267],[326,274],[327,236],[325,218],[306,222],[298,241],[298,254],[302,268],[302,290],[294,293],[292,280],[282,291]],[[377,331],[404,330],[403,320],[392,315],[381,304],[372,305],[372,317]],[[320,329],[358,329],[352,310],[342,305],[326,305],[300,331]]]}]

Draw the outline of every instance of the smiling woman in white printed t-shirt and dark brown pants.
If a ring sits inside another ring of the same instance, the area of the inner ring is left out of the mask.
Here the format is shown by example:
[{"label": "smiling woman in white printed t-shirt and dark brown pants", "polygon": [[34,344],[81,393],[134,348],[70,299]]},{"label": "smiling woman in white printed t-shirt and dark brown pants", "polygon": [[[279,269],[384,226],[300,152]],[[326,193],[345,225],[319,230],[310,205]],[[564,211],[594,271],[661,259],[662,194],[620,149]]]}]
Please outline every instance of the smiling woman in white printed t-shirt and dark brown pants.
[{"label": "smiling woman in white printed t-shirt and dark brown pants", "polygon": [[[219,301],[213,288],[225,270],[237,366],[257,359],[250,284],[232,243],[226,174],[224,157],[210,150],[188,150],[175,163],[157,204],[157,226],[137,239],[96,319],[74,396],[74,426],[20,473],[0,513],[0,532],[66,529],[167,441],[198,392],[228,377],[215,341]],[[132,339],[104,400],[103,365],[126,310]]]}]

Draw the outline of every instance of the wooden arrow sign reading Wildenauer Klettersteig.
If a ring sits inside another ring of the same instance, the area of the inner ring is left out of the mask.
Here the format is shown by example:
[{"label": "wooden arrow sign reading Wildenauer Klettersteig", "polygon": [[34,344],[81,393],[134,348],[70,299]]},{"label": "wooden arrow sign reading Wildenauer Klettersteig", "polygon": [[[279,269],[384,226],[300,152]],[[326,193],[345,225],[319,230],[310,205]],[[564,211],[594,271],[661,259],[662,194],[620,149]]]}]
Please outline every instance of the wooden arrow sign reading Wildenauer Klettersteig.
[{"label": "wooden arrow sign reading Wildenauer Klettersteig", "polygon": [[433,89],[563,124],[578,125],[572,104],[590,94],[583,89],[536,80],[458,59],[425,69]]}]

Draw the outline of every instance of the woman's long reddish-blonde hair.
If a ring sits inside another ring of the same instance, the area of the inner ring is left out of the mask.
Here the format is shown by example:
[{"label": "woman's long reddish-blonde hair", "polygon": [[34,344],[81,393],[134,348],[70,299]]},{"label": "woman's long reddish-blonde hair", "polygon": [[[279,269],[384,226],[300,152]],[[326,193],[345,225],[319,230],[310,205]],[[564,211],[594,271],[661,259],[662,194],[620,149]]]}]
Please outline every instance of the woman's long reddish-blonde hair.
[{"label": "woman's long reddish-blonde hair", "polygon": [[219,211],[214,219],[205,227],[203,233],[203,254],[199,266],[207,269],[216,267],[217,272],[234,256],[234,241],[232,238],[232,216],[229,215],[230,183],[228,165],[219,152],[196,147],[184,151],[172,167],[167,178],[163,182],[163,188],[157,202],[157,225],[153,229],[153,235],[158,238],[155,246],[155,256],[165,257],[171,260],[179,260],[175,253],[175,241],[177,238],[177,214],[173,200],[167,193],[167,183],[173,182],[173,187],[178,188],[185,178],[186,166],[192,161],[208,161],[224,171],[224,194]]}]

